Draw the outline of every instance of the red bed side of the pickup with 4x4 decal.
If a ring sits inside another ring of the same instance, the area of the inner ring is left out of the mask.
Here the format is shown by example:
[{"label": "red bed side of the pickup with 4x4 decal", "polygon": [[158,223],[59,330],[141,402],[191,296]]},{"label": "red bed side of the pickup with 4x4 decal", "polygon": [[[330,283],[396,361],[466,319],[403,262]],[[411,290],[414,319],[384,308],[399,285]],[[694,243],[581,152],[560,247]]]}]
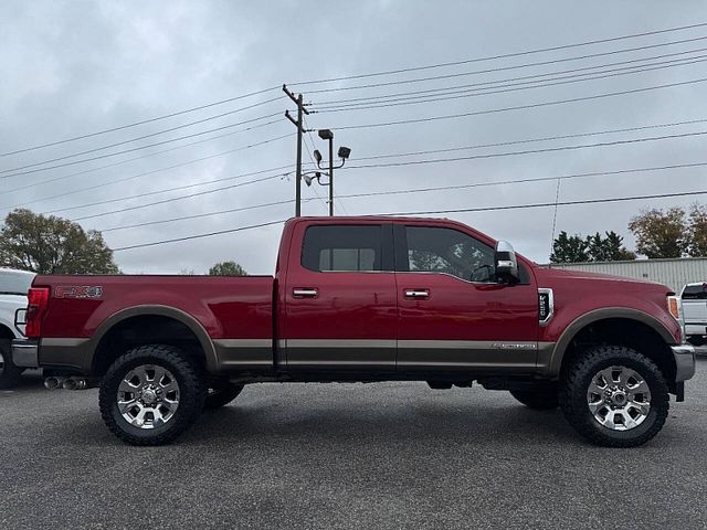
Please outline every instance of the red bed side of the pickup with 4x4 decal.
[{"label": "red bed side of the pickup with 4x4 decal", "polygon": [[51,289],[40,361],[85,371],[87,353],[70,352],[93,351],[117,324],[150,314],[187,324],[209,344],[210,370],[272,365],[273,285],[272,276],[38,276],[33,287]]}]

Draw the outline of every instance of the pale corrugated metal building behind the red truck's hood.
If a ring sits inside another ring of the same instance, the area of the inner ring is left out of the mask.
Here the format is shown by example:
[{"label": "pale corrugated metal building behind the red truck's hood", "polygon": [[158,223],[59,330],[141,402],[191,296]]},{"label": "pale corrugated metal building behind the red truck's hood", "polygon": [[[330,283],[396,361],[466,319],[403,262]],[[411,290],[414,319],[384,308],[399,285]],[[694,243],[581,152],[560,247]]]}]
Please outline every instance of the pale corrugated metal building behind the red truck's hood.
[{"label": "pale corrugated metal building behind the red truck's hood", "polygon": [[675,293],[685,284],[707,282],[707,257],[674,259],[634,259],[631,262],[552,263],[552,268],[568,268],[589,273],[611,274],[627,278],[646,279],[667,285]]}]

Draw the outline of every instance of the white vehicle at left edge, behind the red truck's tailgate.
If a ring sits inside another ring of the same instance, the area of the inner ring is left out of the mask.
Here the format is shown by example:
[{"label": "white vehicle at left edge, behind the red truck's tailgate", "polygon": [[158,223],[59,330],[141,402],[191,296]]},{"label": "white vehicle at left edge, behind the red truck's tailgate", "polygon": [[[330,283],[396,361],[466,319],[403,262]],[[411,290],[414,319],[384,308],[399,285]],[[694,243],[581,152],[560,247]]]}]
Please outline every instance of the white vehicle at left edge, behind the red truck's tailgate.
[{"label": "white vehicle at left edge, behind the red truck's tailgate", "polygon": [[14,314],[27,307],[27,292],[34,273],[0,268],[0,389],[9,389],[18,382],[22,370],[12,363],[10,342],[20,338],[14,327]]}]

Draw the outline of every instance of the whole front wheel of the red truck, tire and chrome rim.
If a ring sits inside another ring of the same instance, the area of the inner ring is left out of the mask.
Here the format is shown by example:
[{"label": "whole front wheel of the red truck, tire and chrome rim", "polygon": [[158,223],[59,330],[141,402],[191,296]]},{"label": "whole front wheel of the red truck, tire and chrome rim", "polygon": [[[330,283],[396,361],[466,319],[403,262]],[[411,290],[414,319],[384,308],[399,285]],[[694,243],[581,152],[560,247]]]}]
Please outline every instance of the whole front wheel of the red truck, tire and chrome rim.
[{"label": "whole front wheel of the red truck, tire and chrome rim", "polygon": [[590,442],[635,447],[663,428],[669,396],[651,359],[631,348],[598,346],[569,368],[560,405],[568,422]]}]

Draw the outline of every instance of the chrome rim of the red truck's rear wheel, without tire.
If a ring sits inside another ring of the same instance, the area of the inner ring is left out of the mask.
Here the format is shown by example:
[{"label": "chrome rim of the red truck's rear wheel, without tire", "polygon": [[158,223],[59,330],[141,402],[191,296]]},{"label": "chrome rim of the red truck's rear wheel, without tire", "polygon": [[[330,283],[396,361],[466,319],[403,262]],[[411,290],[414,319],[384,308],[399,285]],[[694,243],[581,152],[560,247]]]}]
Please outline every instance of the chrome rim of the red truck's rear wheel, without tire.
[{"label": "chrome rim of the red truck's rear wheel, without tire", "polygon": [[125,374],[118,385],[118,411],[138,428],[169,422],[179,407],[179,383],[165,368],[143,364]]}]

